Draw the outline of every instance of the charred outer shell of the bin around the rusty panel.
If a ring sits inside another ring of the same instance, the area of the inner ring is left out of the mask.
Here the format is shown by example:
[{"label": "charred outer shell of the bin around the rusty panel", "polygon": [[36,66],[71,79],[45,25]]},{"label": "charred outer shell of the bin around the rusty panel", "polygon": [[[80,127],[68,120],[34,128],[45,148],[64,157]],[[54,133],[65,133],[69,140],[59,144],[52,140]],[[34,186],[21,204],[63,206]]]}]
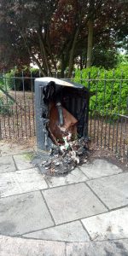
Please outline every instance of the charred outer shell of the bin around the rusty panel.
[{"label": "charred outer shell of the bin around the rusty panel", "polygon": [[[36,135],[38,151],[48,151],[53,144],[49,137],[50,102],[61,102],[61,107],[78,120],[78,137],[88,136],[89,90],[82,84],[65,79],[35,79]],[[56,104],[57,105],[57,104]],[[61,120],[62,121],[62,120]]]}]

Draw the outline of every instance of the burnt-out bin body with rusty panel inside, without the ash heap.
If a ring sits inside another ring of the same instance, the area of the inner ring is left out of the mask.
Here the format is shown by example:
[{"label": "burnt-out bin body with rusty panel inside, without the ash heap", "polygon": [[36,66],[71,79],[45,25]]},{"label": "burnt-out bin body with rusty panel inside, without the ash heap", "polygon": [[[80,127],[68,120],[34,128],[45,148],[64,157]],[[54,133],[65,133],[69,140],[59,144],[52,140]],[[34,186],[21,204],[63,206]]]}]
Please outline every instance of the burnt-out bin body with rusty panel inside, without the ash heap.
[{"label": "burnt-out bin body with rusty panel inside, without the ash heap", "polygon": [[35,79],[38,151],[49,151],[57,143],[58,127],[70,128],[70,133],[79,138],[87,137],[89,101],[89,90],[82,84],[55,78]]}]

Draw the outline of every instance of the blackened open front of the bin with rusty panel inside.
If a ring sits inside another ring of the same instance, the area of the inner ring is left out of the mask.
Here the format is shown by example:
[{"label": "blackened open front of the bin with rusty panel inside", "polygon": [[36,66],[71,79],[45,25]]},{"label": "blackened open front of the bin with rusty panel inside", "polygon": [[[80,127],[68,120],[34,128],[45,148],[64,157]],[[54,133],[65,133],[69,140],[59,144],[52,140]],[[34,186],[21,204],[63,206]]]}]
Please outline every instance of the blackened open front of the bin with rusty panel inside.
[{"label": "blackened open front of the bin with rusty panel inside", "polygon": [[42,118],[45,129],[49,131],[48,136],[57,146],[64,144],[66,139],[75,140],[86,136],[87,101],[86,90],[84,87],[82,89],[58,85],[52,81],[43,87]]}]

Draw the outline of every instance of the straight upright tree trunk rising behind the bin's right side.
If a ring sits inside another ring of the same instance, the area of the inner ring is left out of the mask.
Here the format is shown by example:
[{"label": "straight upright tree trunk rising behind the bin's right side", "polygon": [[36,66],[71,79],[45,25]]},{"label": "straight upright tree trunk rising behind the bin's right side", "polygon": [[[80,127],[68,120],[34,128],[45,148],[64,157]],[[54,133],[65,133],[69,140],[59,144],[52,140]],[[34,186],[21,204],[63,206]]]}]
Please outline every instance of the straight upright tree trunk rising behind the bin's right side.
[{"label": "straight upright tree trunk rising behind the bin's right side", "polygon": [[88,21],[88,48],[86,67],[90,67],[92,63],[92,48],[93,48],[93,21]]}]

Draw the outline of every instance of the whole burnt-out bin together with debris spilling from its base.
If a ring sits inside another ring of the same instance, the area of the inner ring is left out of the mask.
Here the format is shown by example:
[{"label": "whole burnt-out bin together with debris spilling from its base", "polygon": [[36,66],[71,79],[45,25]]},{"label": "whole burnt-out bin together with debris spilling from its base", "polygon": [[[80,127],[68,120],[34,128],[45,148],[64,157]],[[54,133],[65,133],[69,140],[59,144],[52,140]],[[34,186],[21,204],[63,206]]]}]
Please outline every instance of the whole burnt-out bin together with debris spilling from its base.
[{"label": "whole burnt-out bin together with debris spilling from its base", "polygon": [[82,84],[61,79],[36,79],[38,149],[49,152],[42,165],[64,173],[86,161],[89,92]]}]

